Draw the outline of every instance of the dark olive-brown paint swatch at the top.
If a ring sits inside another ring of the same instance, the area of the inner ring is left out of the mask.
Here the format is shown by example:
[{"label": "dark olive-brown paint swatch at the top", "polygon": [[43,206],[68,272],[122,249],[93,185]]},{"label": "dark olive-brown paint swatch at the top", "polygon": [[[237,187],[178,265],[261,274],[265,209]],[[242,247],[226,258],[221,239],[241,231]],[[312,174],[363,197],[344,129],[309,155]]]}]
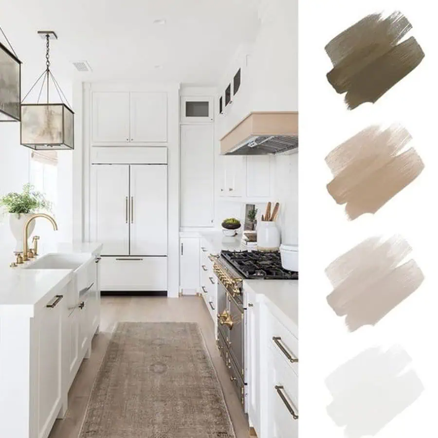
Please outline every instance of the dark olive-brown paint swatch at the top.
[{"label": "dark olive-brown paint swatch at the top", "polygon": [[327,79],[339,94],[347,92],[348,109],[376,102],[420,64],[424,52],[414,37],[398,44],[411,29],[400,12],[372,14],[327,44],[333,65]]}]

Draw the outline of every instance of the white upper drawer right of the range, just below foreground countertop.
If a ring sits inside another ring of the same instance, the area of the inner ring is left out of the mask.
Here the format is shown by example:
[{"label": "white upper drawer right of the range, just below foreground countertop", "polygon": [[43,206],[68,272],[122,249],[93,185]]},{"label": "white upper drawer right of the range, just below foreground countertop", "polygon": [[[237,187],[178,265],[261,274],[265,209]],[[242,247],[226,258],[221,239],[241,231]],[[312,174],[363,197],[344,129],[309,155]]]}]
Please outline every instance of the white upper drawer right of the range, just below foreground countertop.
[{"label": "white upper drawer right of the range, just below foreground countertop", "polygon": [[267,325],[268,345],[278,351],[298,375],[298,339],[269,311]]}]

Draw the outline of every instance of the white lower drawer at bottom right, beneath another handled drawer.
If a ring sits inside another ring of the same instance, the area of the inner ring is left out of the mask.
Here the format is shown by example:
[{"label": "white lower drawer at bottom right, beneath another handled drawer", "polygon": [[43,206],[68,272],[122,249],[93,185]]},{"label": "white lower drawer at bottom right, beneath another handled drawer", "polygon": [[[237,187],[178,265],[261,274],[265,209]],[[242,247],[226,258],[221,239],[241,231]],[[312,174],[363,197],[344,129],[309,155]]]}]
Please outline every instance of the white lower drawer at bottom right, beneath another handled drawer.
[{"label": "white lower drawer at bottom right, beneath another handled drawer", "polygon": [[298,377],[274,347],[269,348],[269,432],[273,438],[298,437]]}]

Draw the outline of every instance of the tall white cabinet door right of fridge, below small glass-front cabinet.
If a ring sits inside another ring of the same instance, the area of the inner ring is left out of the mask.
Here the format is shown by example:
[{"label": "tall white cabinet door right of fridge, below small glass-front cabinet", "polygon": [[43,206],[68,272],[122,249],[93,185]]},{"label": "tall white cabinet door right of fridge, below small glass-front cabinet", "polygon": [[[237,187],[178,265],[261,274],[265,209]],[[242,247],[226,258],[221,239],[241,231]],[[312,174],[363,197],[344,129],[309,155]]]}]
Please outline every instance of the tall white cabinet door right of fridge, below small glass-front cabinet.
[{"label": "tall white cabinet door right of fridge, below small glass-front cabinet", "polygon": [[181,226],[214,221],[213,124],[181,126]]}]

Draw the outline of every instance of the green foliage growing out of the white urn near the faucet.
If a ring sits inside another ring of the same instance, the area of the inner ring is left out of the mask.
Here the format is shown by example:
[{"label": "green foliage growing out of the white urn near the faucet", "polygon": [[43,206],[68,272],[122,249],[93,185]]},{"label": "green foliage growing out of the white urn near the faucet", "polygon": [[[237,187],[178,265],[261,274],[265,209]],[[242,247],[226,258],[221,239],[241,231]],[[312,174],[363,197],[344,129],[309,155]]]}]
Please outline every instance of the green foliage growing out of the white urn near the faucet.
[{"label": "green foliage growing out of the white urn near the faucet", "polygon": [[21,193],[10,192],[0,198],[0,206],[8,213],[22,214],[35,213],[45,210],[51,211],[52,203],[48,201],[44,194],[35,190],[32,184],[24,184]]}]

